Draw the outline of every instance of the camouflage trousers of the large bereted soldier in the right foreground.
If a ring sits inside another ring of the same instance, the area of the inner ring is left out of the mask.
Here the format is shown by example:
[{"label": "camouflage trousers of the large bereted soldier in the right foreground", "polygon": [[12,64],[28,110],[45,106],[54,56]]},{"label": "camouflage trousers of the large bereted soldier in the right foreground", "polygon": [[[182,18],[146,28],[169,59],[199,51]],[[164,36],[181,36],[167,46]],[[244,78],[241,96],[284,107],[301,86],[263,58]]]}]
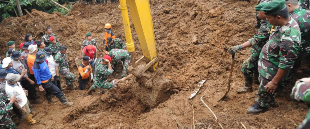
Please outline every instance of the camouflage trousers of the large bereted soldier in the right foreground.
[{"label": "camouflage trousers of the large bereted soldier in the right foreground", "polygon": [[[258,92],[257,92],[257,97],[258,97],[257,103],[261,107],[269,107],[270,103],[272,103],[274,101],[274,97],[276,96],[276,93],[275,94],[269,94],[265,88],[267,83],[270,82],[271,80],[268,80],[261,75],[259,75],[258,80],[259,80],[260,84],[259,84],[259,88],[258,88]],[[277,88],[277,90],[278,90],[278,88]],[[276,92],[277,92],[277,90],[276,90]]]}]

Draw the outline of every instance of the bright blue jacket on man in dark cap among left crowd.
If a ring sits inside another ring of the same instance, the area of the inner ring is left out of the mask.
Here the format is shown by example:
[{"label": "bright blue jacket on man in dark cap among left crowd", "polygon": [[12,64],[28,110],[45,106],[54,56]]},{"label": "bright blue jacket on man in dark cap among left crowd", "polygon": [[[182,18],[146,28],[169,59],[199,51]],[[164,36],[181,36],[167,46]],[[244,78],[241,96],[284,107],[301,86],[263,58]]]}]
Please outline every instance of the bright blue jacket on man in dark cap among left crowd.
[{"label": "bright blue jacket on man in dark cap among left crowd", "polygon": [[34,62],[33,66],[34,77],[37,80],[37,85],[41,85],[41,81],[47,81],[52,78],[51,72],[48,69],[46,61],[43,63]]}]

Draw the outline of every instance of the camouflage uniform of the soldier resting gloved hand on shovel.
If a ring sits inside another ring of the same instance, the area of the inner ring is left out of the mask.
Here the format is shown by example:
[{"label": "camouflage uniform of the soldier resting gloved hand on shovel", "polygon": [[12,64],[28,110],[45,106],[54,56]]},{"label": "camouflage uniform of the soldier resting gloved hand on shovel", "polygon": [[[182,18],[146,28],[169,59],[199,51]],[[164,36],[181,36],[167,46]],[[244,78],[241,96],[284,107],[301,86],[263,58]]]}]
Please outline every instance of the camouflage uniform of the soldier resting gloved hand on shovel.
[{"label": "camouflage uniform of the soldier resting gloved hand on shovel", "polygon": [[253,38],[249,39],[252,46],[250,50],[251,55],[241,65],[241,72],[244,74],[248,86],[252,85],[253,73],[257,70],[259,53],[269,39],[271,27],[272,25],[267,20],[263,20],[257,33]]}]

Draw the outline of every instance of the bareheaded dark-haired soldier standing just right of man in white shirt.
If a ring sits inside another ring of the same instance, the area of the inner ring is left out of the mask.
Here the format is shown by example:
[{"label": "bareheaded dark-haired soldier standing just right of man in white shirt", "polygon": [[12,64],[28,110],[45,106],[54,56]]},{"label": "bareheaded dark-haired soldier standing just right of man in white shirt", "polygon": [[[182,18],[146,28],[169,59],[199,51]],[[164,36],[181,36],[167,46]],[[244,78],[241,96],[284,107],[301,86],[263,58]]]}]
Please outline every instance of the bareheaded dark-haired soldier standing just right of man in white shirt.
[{"label": "bareheaded dark-haired soldier standing just right of man in white shirt", "polygon": [[75,75],[70,72],[68,67],[68,65],[71,65],[71,63],[68,61],[66,56],[67,49],[68,48],[66,46],[60,46],[59,52],[55,56],[56,79],[60,80],[60,74],[63,75],[64,78],[66,78],[67,87],[73,90],[75,89],[75,86],[72,85],[75,79]]}]

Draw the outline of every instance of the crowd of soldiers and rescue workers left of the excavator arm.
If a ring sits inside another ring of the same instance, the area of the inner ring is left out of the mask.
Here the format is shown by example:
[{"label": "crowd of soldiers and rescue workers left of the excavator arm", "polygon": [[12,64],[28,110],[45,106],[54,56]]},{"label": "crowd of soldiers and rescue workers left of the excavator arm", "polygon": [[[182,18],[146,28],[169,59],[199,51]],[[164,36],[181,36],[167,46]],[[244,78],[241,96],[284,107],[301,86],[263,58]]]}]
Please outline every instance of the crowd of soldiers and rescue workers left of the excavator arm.
[{"label": "crowd of soldiers and rescue workers left of the excavator arm", "polygon": [[[122,78],[128,74],[131,56],[124,50],[125,43],[115,38],[111,24],[106,24],[104,28],[104,57],[97,58],[100,49],[91,33],[86,33],[80,58],[77,59],[82,60],[78,65],[79,90],[84,90],[87,82],[94,82],[86,95],[91,95],[95,88],[117,88],[107,80],[118,68],[117,64],[123,66]],[[24,40],[20,43],[20,51],[15,48],[14,41],[7,42],[9,49],[6,58],[0,59],[0,127],[5,129],[15,129],[11,110],[20,120],[24,119],[29,124],[38,122],[31,114],[33,104],[42,103],[36,89],[45,91],[48,102],[52,101],[52,96],[56,96],[64,105],[73,105],[62,93],[65,89],[76,89],[73,84],[76,76],[70,72],[71,63],[66,54],[68,48],[60,45],[50,27],[46,28],[42,40],[34,41],[31,34],[26,34]],[[61,87],[60,76],[64,76],[67,87]]]}]

